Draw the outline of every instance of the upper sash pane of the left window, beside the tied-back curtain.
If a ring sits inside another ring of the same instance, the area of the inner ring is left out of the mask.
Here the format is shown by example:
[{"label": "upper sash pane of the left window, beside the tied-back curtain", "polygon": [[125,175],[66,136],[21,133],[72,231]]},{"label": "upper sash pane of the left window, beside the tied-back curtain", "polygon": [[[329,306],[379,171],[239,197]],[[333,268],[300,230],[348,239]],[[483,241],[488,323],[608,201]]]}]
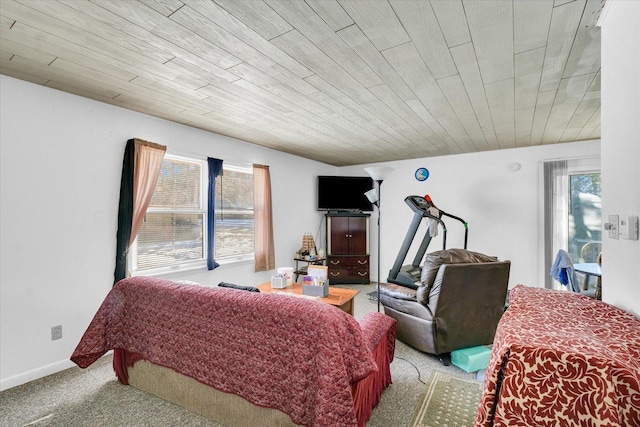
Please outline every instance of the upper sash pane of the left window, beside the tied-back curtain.
[{"label": "upper sash pane of the left window, beside the tied-back curtain", "polygon": [[165,158],[150,208],[201,209],[200,163]]}]

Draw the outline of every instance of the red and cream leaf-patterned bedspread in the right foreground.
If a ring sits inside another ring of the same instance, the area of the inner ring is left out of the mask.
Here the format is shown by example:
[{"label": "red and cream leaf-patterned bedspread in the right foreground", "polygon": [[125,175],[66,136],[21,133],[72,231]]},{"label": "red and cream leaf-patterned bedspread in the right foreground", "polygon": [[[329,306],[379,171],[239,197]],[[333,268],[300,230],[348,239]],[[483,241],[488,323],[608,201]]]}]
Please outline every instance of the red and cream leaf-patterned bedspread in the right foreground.
[{"label": "red and cream leaf-patterned bedspread in the right foreground", "polygon": [[640,320],[565,291],[516,286],[476,426],[640,426]]}]

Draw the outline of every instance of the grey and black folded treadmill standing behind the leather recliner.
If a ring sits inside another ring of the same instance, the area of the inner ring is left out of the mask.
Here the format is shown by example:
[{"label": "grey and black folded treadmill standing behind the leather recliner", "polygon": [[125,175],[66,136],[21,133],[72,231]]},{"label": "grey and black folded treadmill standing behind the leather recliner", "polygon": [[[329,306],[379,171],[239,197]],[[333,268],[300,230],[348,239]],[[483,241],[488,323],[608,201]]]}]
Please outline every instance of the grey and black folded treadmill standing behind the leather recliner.
[{"label": "grey and black folded treadmill standing behind the leather recliner", "polygon": [[[462,218],[448,214],[437,208],[433,204],[433,201],[431,200],[431,197],[429,197],[429,195],[425,195],[424,197],[408,196],[404,199],[404,201],[414,212],[413,219],[411,220],[411,225],[409,226],[407,235],[404,238],[404,242],[402,242],[400,252],[398,253],[396,261],[393,264],[393,268],[391,268],[391,270],[389,271],[387,282],[406,286],[412,289],[417,289],[418,285],[420,284],[420,276],[422,275],[422,267],[420,266],[420,263],[422,262],[422,259],[427,252],[427,248],[429,247],[429,243],[431,243],[432,238],[431,233],[429,233],[428,229],[422,239],[422,243],[418,248],[418,252],[416,253],[415,258],[413,259],[413,263],[407,265],[402,265],[402,263],[409,253],[411,243],[413,242],[413,239],[418,232],[418,227],[420,227],[422,219],[429,218],[433,221],[436,221],[437,225],[442,227],[442,249],[447,248],[447,227],[444,221],[442,221],[443,216],[453,218],[457,221],[460,221],[464,225],[464,249],[467,249],[469,228],[466,221]],[[429,213],[429,208],[431,207],[438,209],[439,216],[431,215]]]}]

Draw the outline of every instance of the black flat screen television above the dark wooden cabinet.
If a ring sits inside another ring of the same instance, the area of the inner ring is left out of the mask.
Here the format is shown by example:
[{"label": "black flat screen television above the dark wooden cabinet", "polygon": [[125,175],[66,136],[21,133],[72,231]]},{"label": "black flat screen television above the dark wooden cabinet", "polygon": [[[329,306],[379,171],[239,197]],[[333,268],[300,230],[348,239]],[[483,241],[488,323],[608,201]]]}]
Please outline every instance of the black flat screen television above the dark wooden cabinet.
[{"label": "black flat screen television above the dark wooden cabinet", "polygon": [[373,211],[364,195],[373,188],[368,176],[318,176],[319,211]]}]

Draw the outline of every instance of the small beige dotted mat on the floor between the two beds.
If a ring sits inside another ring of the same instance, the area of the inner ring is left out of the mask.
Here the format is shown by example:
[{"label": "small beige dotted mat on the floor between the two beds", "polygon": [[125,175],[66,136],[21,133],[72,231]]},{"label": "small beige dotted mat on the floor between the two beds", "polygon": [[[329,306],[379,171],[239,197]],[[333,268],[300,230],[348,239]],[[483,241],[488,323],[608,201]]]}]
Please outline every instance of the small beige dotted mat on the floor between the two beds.
[{"label": "small beige dotted mat on the floor between the two beds", "polygon": [[480,403],[479,381],[434,371],[411,417],[409,427],[471,427]]}]

